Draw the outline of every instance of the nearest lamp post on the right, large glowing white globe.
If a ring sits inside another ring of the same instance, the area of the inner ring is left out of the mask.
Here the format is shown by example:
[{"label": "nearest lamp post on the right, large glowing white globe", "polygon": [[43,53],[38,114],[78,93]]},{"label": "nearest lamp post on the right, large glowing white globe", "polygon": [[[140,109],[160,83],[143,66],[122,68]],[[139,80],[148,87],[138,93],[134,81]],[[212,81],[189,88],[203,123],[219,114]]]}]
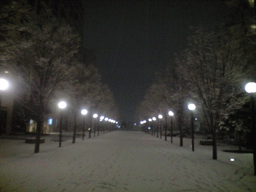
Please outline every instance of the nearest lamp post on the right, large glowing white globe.
[{"label": "nearest lamp post on the right, large glowing white globe", "polygon": [[245,91],[250,94],[251,108],[251,132],[253,140],[253,160],[254,160],[254,175],[256,175],[256,121],[255,121],[255,105],[254,93],[256,92],[256,83],[249,82],[245,85]]}]

